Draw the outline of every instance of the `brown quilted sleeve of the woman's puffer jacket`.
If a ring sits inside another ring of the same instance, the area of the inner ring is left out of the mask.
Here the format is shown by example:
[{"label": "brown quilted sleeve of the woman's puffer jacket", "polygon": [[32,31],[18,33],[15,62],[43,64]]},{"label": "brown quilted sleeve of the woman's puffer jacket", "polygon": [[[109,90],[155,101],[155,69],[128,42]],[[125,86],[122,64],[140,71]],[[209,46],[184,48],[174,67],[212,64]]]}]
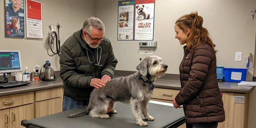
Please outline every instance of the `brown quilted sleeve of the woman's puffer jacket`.
[{"label": "brown quilted sleeve of the woman's puffer jacket", "polygon": [[178,105],[183,105],[196,96],[203,85],[211,61],[212,52],[208,47],[200,46],[195,49],[188,82],[175,97]]}]

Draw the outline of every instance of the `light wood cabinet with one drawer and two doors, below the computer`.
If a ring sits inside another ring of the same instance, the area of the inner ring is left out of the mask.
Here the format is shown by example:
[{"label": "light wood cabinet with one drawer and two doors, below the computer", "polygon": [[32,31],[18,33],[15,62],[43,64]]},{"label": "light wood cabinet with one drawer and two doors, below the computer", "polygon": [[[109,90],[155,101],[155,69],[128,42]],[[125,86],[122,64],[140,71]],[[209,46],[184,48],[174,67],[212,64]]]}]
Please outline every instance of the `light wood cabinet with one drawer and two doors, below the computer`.
[{"label": "light wood cabinet with one drawer and two doors, below the computer", "polygon": [[24,128],[21,120],[34,115],[34,92],[0,97],[0,128]]}]

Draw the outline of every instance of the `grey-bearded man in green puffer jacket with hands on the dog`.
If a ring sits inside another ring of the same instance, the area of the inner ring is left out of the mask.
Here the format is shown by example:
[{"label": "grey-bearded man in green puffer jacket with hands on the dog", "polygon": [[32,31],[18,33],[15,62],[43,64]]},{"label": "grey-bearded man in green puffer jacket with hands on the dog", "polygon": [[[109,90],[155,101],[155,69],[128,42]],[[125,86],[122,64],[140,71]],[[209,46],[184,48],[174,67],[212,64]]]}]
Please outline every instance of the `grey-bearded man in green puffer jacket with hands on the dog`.
[{"label": "grey-bearded man in green puffer jacket with hands on the dog", "polygon": [[62,111],[87,105],[92,90],[113,78],[117,59],[104,32],[103,22],[91,17],[61,46]]}]

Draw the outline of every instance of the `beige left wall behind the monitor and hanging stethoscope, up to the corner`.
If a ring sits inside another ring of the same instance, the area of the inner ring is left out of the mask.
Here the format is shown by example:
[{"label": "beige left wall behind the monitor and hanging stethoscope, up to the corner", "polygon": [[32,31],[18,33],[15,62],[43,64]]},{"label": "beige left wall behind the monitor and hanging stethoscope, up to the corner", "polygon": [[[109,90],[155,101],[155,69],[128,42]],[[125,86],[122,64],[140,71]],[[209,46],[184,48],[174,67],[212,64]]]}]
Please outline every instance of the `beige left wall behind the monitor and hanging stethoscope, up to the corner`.
[{"label": "beige left wall behind the monitor and hanging stethoscope, up to the corner", "polygon": [[[60,28],[60,45],[62,45],[69,36],[83,27],[86,18],[95,15],[95,2],[93,2],[93,0],[76,0],[76,3],[72,0],[40,1],[43,3],[44,39],[6,38],[4,35],[4,0],[0,2],[0,17],[2,19],[0,20],[0,50],[19,50],[21,52],[23,72],[25,71],[25,67],[28,67],[29,73],[32,72],[35,65],[42,67],[46,60],[51,62],[55,71],[59,71],[59,56],[57,54],[54,55],[47,44],[49,39],[48,26],[50,24],[56,25],[57,23],[62,26],[62,28]],[[24,4],[26,3],[24,2]],[[56,28],[54,28],[54,30],[57,32]],[[56,52],[55,42],[53,51]]]}]

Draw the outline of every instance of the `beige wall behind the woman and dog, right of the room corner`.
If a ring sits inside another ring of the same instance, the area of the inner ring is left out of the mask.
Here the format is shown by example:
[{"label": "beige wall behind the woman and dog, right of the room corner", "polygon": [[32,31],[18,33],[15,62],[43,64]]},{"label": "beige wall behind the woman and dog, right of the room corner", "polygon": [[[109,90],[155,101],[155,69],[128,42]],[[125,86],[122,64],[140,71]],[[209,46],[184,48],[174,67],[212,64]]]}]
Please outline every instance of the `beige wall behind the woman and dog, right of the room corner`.
[{"label": "beige wall behind the woman and dog, right of the room corner", "polygon": [[[136,71],[139,58],[148,55],[139,54],[139,41],[117,41],[117,2],[97,0],[96,16],[105,23],[105,36],[112,42],[118,59],[116,70]],[[250,53],[254,56],[256,22],[251,19],[251,9],[255,5],[255,0],[156,0],[154,41],[157,41],[157,48],[153,54],[162,57],[168,65],[166,73],[179,74],[184,45],[174,38],[174,24],[180,16],[198,11],[204,18],[203,26],[209,30],[219,50],[216,54],[217,66],[246,68],[247,60],[244,59]],[[235,61],[236,52],[243,52],[242,62]],[[252,62],[248,70],[247,80],[252,80]]]}]

